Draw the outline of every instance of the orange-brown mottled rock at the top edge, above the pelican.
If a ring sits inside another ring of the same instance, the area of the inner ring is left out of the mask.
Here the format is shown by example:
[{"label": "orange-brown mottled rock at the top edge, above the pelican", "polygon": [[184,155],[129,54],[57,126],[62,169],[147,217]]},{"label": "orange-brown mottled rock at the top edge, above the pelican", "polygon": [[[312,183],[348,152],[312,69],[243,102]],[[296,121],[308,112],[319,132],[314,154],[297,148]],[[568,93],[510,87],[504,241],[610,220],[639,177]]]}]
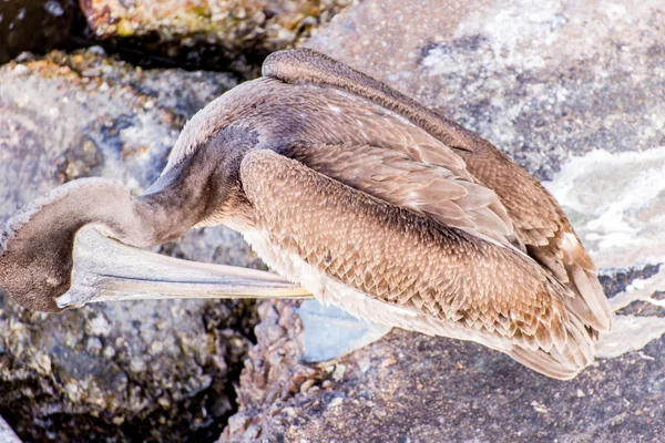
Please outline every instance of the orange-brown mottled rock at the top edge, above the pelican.
[{"label": "orange-brown mottled rock at the top edge, above the pelican", "polygon": [[99,39],[139,42],[181,63],[211,66],[222,58],[246,73],[263,56],[293,45],[351,2],[81,0],[80,4]]}]

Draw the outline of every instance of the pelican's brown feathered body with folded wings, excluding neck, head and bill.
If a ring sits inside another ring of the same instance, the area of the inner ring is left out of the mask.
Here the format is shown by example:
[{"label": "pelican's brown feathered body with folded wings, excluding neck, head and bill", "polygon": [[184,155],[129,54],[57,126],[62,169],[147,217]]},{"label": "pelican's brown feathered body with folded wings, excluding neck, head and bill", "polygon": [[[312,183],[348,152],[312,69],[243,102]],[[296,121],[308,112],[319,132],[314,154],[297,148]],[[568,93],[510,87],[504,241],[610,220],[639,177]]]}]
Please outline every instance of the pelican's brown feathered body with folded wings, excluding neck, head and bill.
[{"label": "pelican's brown feathered body with folded wings, excluding neck, head and bill", "polygon": [[591,363],[611,312],[592,260],[533,177],[325,55],[278,52],[264,75],[193,119],[170,159],[232,127],[255,134],[233,173],[246,219],[226,208],[202,224],[263,238],[273,269],[361,318],[474,340],[560,379]]}]

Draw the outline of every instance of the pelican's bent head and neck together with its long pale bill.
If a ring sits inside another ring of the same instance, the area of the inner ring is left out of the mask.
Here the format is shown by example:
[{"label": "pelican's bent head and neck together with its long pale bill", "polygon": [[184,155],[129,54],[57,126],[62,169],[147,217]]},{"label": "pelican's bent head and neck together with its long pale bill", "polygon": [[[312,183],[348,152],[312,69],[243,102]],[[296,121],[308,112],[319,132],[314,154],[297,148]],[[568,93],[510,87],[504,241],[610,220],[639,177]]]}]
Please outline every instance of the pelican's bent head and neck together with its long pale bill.
[{"label": "pelican's bent head and neck together with its long pale bill", "polygon": [[[206,219],[243,222],[233,207],[238,198],[233,165],[256,136],[211,124],[215,116],[206,111],[190,122],[176,155],[142,195],[110,179],[82,178],[10,218],[0,237],[0,288],[18,305],[48,312],[109,299],[306,295],[268,272],[123,247],[170,241]],[[83,229],[89,225],[104,236]],[[86,234],[78,238],[81,230]]]}]

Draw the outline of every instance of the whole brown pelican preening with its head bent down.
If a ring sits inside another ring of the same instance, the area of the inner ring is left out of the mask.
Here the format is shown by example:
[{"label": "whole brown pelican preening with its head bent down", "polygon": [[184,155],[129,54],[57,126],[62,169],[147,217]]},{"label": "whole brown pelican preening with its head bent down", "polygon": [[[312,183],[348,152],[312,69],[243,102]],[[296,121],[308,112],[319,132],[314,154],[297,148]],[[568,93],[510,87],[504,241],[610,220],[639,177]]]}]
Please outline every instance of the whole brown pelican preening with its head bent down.
[{"label": "whole brown pelican preening with its head bent down", "polygon": [[[0,287],[31,309],[82,305],[104,288],[305,296],[265,272],[190,271],[165,258],[66,292],[74,237],[90,224],[134,247],[224,224],[326,303],[473,340],[556,379],[589,365],[611,326],[591,258],[533,177],[439,113],[306,49],[272,54],[262,78],[198,112],[144,194],[99,178],[65,184],[11,219],[0,244]],[[150,277],[157,271],[163,279]]]}]

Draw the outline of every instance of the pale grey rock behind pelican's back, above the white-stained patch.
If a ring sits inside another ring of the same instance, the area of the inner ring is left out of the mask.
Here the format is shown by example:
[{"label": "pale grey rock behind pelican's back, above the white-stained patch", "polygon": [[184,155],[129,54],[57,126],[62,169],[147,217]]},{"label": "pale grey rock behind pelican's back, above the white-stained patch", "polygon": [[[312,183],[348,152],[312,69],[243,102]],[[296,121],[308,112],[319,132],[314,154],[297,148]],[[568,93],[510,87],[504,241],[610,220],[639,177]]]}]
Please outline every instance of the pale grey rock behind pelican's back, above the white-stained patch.
[{"label": "pale grey rock behind pelican's back, above the white-stained patch", "polygon": [[[368,0],[307,43],[478,132],[541,179],[665,145],[665,4]],[[408,30],[408,31],[407,31]]]}]

